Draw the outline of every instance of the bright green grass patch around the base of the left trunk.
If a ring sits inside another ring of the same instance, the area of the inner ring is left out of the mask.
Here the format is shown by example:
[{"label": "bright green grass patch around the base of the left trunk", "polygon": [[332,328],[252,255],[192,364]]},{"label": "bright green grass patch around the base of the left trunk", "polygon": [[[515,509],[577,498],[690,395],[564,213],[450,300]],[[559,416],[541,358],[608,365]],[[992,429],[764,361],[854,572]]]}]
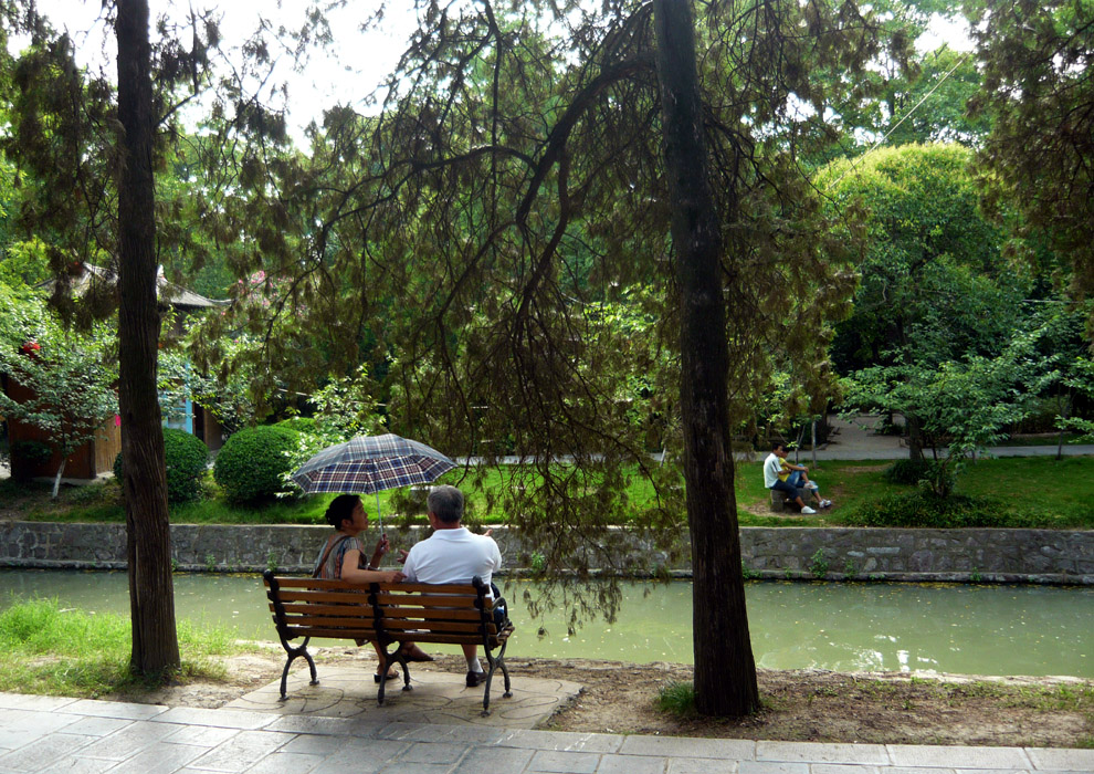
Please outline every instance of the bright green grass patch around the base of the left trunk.
[{"label": "bright green grass patch around the base of the left trunk", "polygon": [[215,657],[238,652],[235,632],[178,623],[182,668],[146,681],[129,671],[129,620],[62,609],[56,599],[14,602],[0,613],[0,691],[95,698],[164,680],[225,679]]}]

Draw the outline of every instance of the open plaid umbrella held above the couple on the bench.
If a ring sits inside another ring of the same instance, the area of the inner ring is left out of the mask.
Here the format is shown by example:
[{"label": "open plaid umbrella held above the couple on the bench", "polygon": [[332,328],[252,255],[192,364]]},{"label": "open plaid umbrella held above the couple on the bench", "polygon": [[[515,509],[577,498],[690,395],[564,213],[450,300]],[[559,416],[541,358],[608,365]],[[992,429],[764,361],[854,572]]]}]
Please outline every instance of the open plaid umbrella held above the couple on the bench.
[{"label": "open plaid umbrella held above the couple on the bench", "polygon": [[[424,443],[399,436],[358,436],[324,449],[293,473],[301,489],[316,492],[376,492],[380,519],[380,490],[435,481],[455,462]],[[380,531],[383,522],[380,521]]]}]

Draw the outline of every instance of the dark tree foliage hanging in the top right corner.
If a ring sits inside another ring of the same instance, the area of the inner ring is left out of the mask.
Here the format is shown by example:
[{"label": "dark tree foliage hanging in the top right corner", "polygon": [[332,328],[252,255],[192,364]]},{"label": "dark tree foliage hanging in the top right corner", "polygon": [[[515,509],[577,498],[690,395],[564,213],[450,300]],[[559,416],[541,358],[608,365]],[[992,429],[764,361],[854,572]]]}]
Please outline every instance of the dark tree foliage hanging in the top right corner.
[{"label": "dark tree foliage hanging in the top right corner", "polygon": [[969,0],[992,130],[978,165],[989,203],[1020,209],[1094,290],[1094,2]]}]

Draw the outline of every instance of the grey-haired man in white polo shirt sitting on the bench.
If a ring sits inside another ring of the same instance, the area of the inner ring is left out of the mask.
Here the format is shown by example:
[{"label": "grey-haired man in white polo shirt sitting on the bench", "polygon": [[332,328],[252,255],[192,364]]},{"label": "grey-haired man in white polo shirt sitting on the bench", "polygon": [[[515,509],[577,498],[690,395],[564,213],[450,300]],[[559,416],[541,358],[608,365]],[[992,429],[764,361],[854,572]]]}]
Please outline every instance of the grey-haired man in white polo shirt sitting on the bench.
[{"label": "grey-haired man in white polo shirt sitting on the bench", "polygon": [[[402,574],[411,583],[471,583],[474,576],[490,585],[502,568],[502,552],[490,534],[476,535],[463,526],[463,492],[455,487],[436,487],[425,500],[433,534],[414,544],[407,554]],[[467,659],[467,686],[486,680],[478,662],[478,646],[463,645]]]}]

